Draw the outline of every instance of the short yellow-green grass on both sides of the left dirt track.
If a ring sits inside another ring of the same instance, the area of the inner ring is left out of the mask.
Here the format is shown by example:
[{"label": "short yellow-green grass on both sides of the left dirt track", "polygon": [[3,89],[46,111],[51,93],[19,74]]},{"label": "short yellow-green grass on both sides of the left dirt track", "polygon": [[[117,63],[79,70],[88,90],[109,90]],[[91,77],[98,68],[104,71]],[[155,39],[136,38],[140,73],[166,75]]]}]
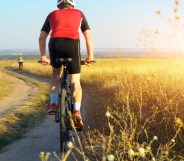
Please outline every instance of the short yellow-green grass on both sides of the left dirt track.
[{"label": "short yellow-green grass on both sides of the left dirt track", "polygon": [[[36,86],[39,92],[29,98],[30,103],[23,104],[0,117],[0,150],[7,144],[12,143],[12,141],[20,139],[30,128],[43,121],[46,117],[45,110],[48,106],[48,87],[46,85],[4,70],[4,67],[10,67],[15,62],[13,60],[0,61],[0,71]],[[4,74],[0,75],[0,83],[0,96],[3,95],[4,97],[5,94],[9,94],[14,90],[11,80]]]}]

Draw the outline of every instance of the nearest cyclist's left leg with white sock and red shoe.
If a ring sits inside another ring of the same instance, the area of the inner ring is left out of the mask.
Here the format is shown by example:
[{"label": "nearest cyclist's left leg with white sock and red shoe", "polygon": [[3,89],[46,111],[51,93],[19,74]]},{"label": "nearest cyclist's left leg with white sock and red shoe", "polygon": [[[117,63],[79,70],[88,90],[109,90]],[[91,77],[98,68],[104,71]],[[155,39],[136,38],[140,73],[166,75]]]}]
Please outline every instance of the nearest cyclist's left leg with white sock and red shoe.
[{"label": "nearest cyclist's left leg with white sock and red shoe", "polygon": [[60,80],[61,68],[53,68],[50,80],[50,107],[48,113],[54,115],[57,111],[58,85]]}]

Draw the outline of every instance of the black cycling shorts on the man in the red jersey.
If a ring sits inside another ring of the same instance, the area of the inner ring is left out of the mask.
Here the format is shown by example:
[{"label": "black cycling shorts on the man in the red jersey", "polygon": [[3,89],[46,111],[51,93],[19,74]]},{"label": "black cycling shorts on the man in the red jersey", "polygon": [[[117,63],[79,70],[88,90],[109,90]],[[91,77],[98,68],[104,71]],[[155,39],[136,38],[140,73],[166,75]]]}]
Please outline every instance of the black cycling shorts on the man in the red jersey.
[{"label": "black cycling shorts on the man in the red jersey", "polygon": [[51,65],[60,68],[61,64],[56,62],[58,58],[72,58],[68,64],[69,74],[78,74],[81,71],[80,41],[70,38],[50,38],[49,54]]}]

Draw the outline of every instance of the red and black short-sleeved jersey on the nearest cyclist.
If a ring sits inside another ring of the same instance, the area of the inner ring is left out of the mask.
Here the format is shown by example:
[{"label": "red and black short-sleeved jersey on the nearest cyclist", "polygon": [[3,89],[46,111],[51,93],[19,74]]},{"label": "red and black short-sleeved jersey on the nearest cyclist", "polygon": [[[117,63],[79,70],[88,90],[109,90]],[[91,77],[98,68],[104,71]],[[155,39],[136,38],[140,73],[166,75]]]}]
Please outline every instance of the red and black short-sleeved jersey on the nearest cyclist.
[{"label": "red and black short-sleeved jersey on the nearest cyclist", "polygon": [[51,38],[79,39],[79,29],[82,32],[89,28],[84,14],[77,9],[59,9],[51,12],[41,29],[46,33],[51,32]]}]

